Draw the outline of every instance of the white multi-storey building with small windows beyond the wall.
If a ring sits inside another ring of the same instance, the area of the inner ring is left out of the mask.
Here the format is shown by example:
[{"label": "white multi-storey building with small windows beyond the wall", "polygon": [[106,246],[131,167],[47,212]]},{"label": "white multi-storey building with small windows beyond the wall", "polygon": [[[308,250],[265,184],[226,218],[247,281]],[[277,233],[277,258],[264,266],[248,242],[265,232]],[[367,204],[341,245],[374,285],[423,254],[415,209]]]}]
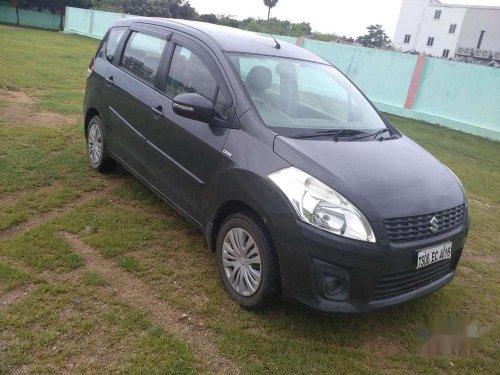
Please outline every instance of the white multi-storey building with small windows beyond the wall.
[{"label": "white multi-storey building with small windows beyond the wall", "polygon": [[437,57],[500,60],[500,6],[403,0],[393,44]]}]

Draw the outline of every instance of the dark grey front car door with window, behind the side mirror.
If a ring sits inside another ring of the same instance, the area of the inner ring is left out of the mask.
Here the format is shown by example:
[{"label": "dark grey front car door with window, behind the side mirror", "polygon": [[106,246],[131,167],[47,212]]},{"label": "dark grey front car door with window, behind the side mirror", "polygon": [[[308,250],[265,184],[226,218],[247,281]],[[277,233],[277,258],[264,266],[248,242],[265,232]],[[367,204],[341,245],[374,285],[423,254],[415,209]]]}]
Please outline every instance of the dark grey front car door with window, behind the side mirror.
[{"label": "dark grey front car door with window, behind the side mirror", "polygon": [[[196,39],[175,35],[170,63],[153,96],[146,149],[150,174],[163,195],[203,222],[203,193],[217,171],[228,125],[234,116],[232,95],[216,59]],[[209,98],[216,118],[210,123],[174,113],[172,99],[186,92]]]}]

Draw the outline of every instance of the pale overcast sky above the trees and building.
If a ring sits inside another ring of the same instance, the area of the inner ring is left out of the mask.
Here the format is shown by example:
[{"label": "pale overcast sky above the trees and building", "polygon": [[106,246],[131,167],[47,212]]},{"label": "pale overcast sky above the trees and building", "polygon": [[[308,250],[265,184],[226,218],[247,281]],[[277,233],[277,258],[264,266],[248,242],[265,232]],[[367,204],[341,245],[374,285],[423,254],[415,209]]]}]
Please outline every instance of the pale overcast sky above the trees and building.
[{"label": "pale overcast sky above the trees and building", "polygon": [[[189,0],[198,13],[231,15],[237,19],[267,18],[263,0]],[[448,4],[500,6],[500,0],[442,0]],[[381,24],[392,39],[402,0],[279,0],[271,17],[309,22],[313,31],[356,37],[371,24]]]}]

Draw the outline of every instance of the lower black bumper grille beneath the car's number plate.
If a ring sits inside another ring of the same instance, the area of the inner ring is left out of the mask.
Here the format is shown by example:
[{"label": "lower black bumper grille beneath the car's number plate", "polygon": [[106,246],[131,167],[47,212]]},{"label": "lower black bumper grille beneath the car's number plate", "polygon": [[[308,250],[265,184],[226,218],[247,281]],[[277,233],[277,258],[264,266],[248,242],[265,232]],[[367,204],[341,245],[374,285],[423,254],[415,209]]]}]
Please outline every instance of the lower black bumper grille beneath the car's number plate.
[{"label": "lower black bumper grille beneath the car's number plate", "polygon": [[411,270],[382,276],[375,287],[371,300],[377,301],[405,294],[441,279],[455,269],[461,250],[450,259],[431,264],[418,270]]}]

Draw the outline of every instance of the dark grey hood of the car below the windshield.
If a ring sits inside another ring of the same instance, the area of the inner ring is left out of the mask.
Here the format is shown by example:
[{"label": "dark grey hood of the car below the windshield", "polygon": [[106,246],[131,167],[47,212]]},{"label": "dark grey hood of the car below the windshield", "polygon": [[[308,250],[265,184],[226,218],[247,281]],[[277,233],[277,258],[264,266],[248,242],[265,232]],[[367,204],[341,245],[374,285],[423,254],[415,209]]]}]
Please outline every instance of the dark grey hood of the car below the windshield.
[{"label": "dark grey hood of the car below the windshield", "polygon": [[274,151],[349,199],[372,221],[464,203],[455,176],[409,138],[334,142],[277,136]]}]

